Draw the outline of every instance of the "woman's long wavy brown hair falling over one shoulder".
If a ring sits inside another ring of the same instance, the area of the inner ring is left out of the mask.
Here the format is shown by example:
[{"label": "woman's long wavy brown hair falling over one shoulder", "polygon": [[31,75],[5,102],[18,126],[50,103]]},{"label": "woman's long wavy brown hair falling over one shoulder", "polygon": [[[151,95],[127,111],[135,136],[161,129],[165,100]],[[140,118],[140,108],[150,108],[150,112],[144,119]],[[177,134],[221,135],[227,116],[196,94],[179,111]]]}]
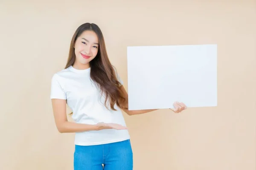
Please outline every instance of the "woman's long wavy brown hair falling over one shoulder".
[{"label": "woman's long wavy brown hair falling over one shoulder", "polygon": [[75,54],[75,43],[77,37],[79,37],[84,31],[94,31],[99,40],[99,50],[96,57],[90,61],[90,77],[99,86],[102,94],[105,94],[105,107],[107,102],[109,103],[112,110],[116,111],[114,105],[116,104],[119,108],[124,108],[122,103],[125,98],[122,95],[120,89],[120,82],[117,79],[116,71],[108,58],[107,50],[105,47],[105,40],[99,26],[94,23],[84,23],[76,29],[73,38],[70,43],[70,51],[67,59],[67,65],[65,68],[73,65],[76,59]]}]

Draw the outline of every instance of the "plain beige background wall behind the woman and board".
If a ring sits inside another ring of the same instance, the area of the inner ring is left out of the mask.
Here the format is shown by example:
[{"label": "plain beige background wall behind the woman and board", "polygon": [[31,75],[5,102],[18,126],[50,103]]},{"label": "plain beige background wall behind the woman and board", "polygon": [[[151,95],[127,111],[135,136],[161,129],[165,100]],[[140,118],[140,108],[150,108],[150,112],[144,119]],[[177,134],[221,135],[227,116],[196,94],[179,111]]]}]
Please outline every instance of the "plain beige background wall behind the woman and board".
[{"label": "plain beige background wall behind the woman and board", "polygon": [[218,44],[218,107],[124,114],[134,170],[256,169],[255,0],[1,0],[0,170],[73,169],[74,134],[58,133],[49,92],[85,22],[126,90],[127,46]]}]

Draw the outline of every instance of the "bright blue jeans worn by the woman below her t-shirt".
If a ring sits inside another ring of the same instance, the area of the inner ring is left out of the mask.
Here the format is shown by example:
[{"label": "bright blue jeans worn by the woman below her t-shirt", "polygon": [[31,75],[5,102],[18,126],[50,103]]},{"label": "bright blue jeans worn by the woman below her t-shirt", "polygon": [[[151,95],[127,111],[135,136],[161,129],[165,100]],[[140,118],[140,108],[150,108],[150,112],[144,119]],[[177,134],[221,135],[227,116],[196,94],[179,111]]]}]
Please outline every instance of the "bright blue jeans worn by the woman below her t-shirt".
[{"label": "bright blue jeans worn by the woman below her t-shirt", "polygon": [[75,145],[74,170],[133,170],[130,139],[92,146]]}]

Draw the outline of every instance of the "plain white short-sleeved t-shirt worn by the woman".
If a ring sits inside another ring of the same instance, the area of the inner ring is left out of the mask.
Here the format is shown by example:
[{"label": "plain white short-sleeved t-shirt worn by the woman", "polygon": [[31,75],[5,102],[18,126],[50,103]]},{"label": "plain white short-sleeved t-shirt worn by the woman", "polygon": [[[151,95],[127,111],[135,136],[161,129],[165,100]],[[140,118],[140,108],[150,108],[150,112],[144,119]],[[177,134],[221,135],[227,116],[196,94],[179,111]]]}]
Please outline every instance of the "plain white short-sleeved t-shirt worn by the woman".
[{"label": "plain white short-sleeved t-shirt worn by the woman", "polygon": [[[118,74],[117,77],[123,84]],[[91,80],[90,68],[78,70],[70,66],[55,73],[52,77],[50,98],[66,99],[67,105],[73,111],[72,118],[76,123],[95,125],[98,122],[105,122],[126,126],[120,108],[116,105],[117,111],[105,108],[105,97]],[[91,130],[76,133],[75,144],[107,144],[126,139],[130,139],[128,130]]]}]

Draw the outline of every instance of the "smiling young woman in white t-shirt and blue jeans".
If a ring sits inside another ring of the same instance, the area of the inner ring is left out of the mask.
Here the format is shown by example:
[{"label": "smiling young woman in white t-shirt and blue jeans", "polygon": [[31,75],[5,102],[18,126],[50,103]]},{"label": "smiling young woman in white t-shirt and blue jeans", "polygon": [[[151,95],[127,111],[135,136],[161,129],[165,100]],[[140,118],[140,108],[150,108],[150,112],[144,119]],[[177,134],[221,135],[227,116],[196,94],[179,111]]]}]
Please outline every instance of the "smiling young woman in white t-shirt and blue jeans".
[{"label": "smiling young woman in white t-shirt and blue jeans", "polygon": [[[51,99],[60,133],[76,133],[74,170],[132,170],[130,136],[121,109],[128,115],[128,94],[111,65],[100,28],[84,23],[70,44],[66,67],[52,77]],[[67,121],[66,104],[74,122]],[[175,102],[175,113],[186,109]],[[103,165],[103,166],[102,166]]]}]

